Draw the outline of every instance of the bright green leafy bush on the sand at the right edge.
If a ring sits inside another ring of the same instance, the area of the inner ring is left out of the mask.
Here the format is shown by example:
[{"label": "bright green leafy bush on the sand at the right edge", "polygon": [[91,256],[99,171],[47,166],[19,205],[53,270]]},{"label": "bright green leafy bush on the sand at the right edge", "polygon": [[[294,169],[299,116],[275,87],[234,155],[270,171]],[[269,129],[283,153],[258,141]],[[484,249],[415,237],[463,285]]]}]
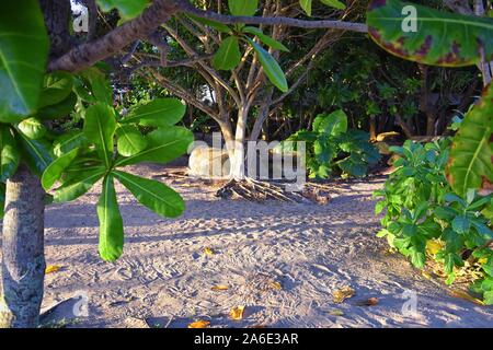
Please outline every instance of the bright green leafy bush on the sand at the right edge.
[{"label": "bright green leafy bush on the sand at the right edge", "polygon": [[379,237],[424,268],[427,258],[444,267],[447,283],[456,279],[457,268],[481,267],[483,277],[471,289],[493,304],[493,238],[491,208],[493,196],[482,197],[469,190],[465,198],[455,195],[445,177],[451,140],[420,144],[406,141],[391,148],[400,155],[397,170],[389,176],[376,213],[386,210]]}]

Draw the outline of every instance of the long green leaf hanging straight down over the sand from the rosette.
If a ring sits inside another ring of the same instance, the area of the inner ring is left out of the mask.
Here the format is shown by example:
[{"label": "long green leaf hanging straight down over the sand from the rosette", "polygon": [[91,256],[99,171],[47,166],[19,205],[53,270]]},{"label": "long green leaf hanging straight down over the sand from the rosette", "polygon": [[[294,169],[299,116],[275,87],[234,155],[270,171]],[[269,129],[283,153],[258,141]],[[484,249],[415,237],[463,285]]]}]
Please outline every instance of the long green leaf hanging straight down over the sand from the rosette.
[{"label": "long green leaf hanging straight down over the sand from the rosette", "polygon": [[124,229],[112,175],[103,180],[103,190],[98,201],[98,219],[100,220],[100,256],[105,261],[114,261],[123,254]]}]

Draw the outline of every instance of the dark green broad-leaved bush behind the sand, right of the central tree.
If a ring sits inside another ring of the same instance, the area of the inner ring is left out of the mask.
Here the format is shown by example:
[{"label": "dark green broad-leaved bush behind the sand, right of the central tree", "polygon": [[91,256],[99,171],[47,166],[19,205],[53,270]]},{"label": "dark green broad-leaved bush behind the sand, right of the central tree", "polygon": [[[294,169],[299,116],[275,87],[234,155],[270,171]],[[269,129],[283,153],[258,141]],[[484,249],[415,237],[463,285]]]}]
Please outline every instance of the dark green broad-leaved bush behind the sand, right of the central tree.
[{"label": "dark green broad-leaved bush behind the sand, right of the central tree", "polygon": [[347,129],[347,116],[342,109],[318,115],[311,131],[300,130],[287,140],[307,142],[311,178],[328,178],[335,170],[343,176],[363,177],[368,166],[380,159],[367,132]]}]

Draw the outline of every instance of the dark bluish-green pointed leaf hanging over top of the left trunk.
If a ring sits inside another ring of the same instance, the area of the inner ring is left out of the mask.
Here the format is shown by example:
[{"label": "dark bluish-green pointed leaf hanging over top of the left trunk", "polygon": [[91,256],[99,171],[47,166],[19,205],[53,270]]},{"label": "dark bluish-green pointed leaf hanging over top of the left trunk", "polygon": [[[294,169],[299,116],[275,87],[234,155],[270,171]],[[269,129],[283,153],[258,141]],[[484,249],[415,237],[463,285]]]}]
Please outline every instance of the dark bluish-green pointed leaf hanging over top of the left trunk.
[{"label": "dark bluish-green pointed leaf hanging over top of the left trunk", "polygon": [[26,161],[31,171],[41,177],[54,160],[51,144],[45,139],[32,140],[21,132],[18,135],[23,160]]}]

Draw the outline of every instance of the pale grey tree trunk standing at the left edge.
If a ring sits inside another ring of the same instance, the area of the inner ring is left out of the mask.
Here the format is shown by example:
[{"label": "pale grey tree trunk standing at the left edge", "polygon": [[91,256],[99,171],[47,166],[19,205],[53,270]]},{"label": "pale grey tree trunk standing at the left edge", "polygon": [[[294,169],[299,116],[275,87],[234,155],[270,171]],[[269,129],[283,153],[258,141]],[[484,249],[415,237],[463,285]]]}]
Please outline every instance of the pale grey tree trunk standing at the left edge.
[{"label": "pale grey tree trunk standing at the left edge", "polygon": [[0,327],[38,325],[43,300],[45,192],[39,178],[20,165],[7,182],[2,232]]}]

